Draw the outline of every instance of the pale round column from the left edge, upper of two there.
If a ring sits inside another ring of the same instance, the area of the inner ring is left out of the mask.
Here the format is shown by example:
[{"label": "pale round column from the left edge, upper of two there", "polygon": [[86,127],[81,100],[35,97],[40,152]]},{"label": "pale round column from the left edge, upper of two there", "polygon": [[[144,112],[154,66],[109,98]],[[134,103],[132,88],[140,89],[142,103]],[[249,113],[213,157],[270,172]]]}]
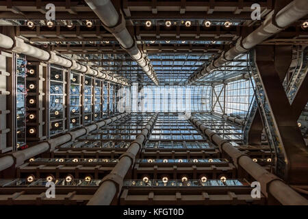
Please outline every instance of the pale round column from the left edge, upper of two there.
[{"label": "pale round column from the left edge, upper of two there", "polygon": [[65,68],[70,68],[71,70],[76,70],[80,73],[86,73],[88,75],[93,75],[94,77],[103,78],[107,81],[119,83],[122,86],[130,86],[130,84],[123,79],[118,79],[114,76],[108,75],[107,73],[102,73],[100,70],[90,68],[90,66],[84,66],[83,64],[77,63],[75,60],[69,60],[60,55],[57,55],[53,51],[49,53],[23,42],[23,40],[20,38],[15,38],[14,41],[9,36],[0,34],[0,47],[8,50],[11,49],[15,53],[29,55],[31,57],[37,58],[38,60],[49,62],[51,64],[57,64]]}]

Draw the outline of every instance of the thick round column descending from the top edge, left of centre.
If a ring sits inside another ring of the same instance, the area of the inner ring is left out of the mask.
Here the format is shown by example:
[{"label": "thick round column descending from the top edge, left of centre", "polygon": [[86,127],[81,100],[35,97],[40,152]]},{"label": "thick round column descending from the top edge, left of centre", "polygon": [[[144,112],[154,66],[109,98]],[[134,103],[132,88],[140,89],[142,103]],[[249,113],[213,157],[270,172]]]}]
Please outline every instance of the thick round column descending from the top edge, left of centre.
[{"label": "thick round column descending from the top edge, left of centre", "polygon": [[131,55],[144,73],[158,86],[157,76],[150,62],[138,49],[136,41],[131,37],[125,26],[125,19],[119,15],[110,0],[86,0],[89,7],[103,22],[104,27],[114,35],[120,45]]}]

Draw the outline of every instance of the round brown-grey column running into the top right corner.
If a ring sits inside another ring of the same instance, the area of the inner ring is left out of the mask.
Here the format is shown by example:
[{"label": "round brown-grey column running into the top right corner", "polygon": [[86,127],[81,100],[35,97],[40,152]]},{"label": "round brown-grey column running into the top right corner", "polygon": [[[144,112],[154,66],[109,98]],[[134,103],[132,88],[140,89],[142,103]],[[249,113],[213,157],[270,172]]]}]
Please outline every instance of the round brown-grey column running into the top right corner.
[{"label": "round brown-grey column running into the top right corner", "polygon": [[209,75],[213,70],[219,68],[223,64],[232,61],[235,57],[242,53],[246,53],[257,44],[260,44],[270,36],[279,33],[288,25],[291,25],[298,19],[308,14],[308,1],[307,0],[294,0],[285,8],[281,9],[276,16],[274,11],[266,16],[266,20],[262,25],[249,34],[246,38],[240,38],[235,47],[232,47],[227,52],[223,52],[218,59],[213,60],[211,64],[207,65],[200,73],[196,73],[190,77],[188,84],[194,83],[198,79]]}]

